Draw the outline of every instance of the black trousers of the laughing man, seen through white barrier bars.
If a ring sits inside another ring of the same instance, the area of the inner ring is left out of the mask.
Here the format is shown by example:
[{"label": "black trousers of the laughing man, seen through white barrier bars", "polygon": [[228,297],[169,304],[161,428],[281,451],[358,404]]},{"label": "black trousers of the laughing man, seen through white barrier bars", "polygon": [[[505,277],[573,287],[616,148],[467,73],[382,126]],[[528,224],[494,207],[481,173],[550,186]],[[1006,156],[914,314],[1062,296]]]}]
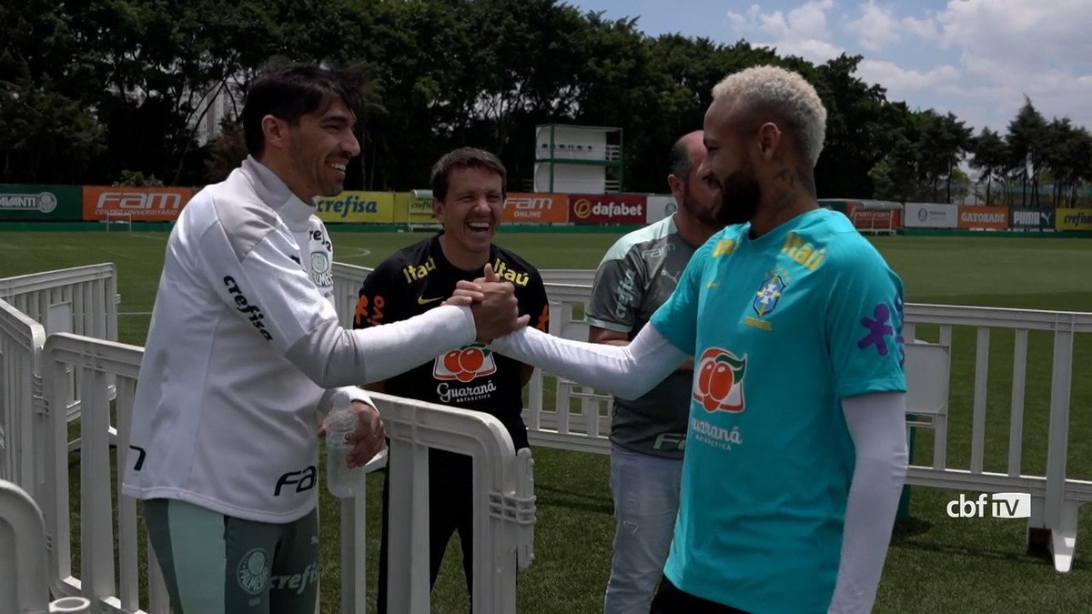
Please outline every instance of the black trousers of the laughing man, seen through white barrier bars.
[{"label": "black trousers of the laughing man, seen through white barrier bars", "polygon": [[[388,457],[387,463],[396,460]],[[448,542],[456,531],[462,543],[466,594],[473,602],[474,586],[474,474],[473,459],[443,450],[428,452],[428,586],[436,585]],[[383,480],[383,532],[379,542],[379,586],[376,609],[387,612],[388,517],[390,511],[390,471]]]}]

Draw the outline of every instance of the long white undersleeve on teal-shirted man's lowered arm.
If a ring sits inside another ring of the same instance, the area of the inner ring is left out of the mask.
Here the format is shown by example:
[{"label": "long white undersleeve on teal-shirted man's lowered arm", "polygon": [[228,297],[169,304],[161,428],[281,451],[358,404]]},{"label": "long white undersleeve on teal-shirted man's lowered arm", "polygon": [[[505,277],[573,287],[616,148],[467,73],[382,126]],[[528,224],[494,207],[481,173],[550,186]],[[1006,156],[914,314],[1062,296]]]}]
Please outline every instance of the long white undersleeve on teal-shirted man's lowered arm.
[{"label": "long white undersleeve on teal-shirted man's lowered arm", "polygon": [[845,506],[842,560],[830,613],[871,612],[899,496],[906,479],[905,393],[874,392],[842,400],[856,462]]}]

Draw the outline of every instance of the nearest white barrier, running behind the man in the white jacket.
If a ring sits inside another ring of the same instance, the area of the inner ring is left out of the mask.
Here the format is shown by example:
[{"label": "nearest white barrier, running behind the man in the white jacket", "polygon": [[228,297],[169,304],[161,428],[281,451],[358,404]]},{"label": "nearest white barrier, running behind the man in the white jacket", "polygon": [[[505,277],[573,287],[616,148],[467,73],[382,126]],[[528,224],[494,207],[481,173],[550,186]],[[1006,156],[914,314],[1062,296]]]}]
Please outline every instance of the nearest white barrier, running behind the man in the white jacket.
[{"label": "nearest white barrier, running behind the man in the white jacket", "polygon": [[[46,511],[52,590],[82,595],[96,612],[140,612],[139,564],[147,563],[149,612],[167,613],[168,600],[151,545],[138,550],[136,501],[119,494],[111,463],[123,465],[127,450],[109,445],[108,376],[117,381],[117,430],[128,440],[133,393],[143,350],[134,345],[59,333],[43,351],[46,409],[36,450],[45,454],[44,480],[36,486]],[[67,416],[52,412],[72,391],[67,374],[79,374],[80,416],[80,569],[72,569],[71,499]],[[515,612],[515,572],[533,557],[534,486],[530,450],[517,454],[501,423],[492,416],[376,393],[391,447],[400,459],[391,468],[389,600],[396,612],[430,611],[427,540],[428,448],[466,453],[474,459],[474,612]],[[118,472],[120,480],[120,471]],[[342,508],[342,611],[364,613],[365,481]],[[321,482],[320,482],[321,484]],[[117,508],[117,524],[114,511]],[[118,574],[115,574],[115,558]]]}]

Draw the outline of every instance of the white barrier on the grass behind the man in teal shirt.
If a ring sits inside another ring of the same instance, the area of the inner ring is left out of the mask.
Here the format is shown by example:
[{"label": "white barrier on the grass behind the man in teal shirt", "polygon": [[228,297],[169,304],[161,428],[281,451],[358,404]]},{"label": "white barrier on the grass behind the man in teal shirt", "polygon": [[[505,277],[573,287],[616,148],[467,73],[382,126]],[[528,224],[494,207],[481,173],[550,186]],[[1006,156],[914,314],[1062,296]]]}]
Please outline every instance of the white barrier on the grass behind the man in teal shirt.
[{"label": "white barrier on the grass behind the man in teal shirt", "polygon": [[[583,314],[583,308],[591,296],[590,286],[547,284],[547,293],[550,298],[550,333],[586,340],[586,326],[574,315]],[[1073,338],[1079,333],[1092,332],[1092,314],[907,304],[903,336],[915,340],[915,328],[927,324],[939,327],[939,343],[917,342],[906,346],[907,368],[915,368],[915,373],[907,376],[907,385],[914,387],[907,394],[910,403],[907,413],[913,414],[912,425],[935,430],[934,459],[931,465],[911,465],[906,482],[922,486],[986,493],[1030,493],[1032,507],[1028,521],[1029,540],[1032,540],[1036,531],[1048,531],[1047,545],[1054,555],[1054,566],[1058,571],[1068,571],[1072,565],[1077,540],[1078,510],[1084,503],[1092,501],[1092,482],[1068,479],[1066,473],[1070,388],[1073,376]],[[949,432],[948,355],[952,345],[953,327],[973,327],[977,335],[972,449],[968,469],[954,469],[946,464]],[[1014,335],[1006,473],[984,470],[992,331],[1011,331]],[[1026,432],[1023,406],[1029,331],[1054,333],[1049,424],[1046,433],[1049,442],[1046,475],[1028,475],[1021,471],[1021,450]],[[939,370],[934,363],[938,359],[943,361],[943,368]],[[556,378],[556,402],[554,411],[549,411],[542,401],[543,386],[537,379],[539,377],[536,371],[536,379],[532,381],[532,386],[536,388],[532,389],[530,406],[524,412],[531,441],[554,448],[608,453],[609,398],[586,387]],[[941,392],[942,399],[940,399]],[[577,401],[579,410],[573,411],[572,403]],[[924,421],[926,417],[929,418],[928,422]]]}]

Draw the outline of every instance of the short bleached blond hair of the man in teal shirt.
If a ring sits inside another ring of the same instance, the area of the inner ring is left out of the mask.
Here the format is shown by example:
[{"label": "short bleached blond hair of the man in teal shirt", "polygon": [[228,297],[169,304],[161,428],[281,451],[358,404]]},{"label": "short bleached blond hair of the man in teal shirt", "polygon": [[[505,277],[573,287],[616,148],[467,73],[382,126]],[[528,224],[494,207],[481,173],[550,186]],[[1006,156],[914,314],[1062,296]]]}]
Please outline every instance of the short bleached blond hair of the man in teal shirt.
[{"label": "short bleached blond hair of the man in teal shirt", "polygon": [[773,66],[748,68],[729,74],[713,86],[713,101],[736,102],[738,117],[778,119],[803,147],[811,166],[819,161],[827,137],[827,108],[803,76]]}]

